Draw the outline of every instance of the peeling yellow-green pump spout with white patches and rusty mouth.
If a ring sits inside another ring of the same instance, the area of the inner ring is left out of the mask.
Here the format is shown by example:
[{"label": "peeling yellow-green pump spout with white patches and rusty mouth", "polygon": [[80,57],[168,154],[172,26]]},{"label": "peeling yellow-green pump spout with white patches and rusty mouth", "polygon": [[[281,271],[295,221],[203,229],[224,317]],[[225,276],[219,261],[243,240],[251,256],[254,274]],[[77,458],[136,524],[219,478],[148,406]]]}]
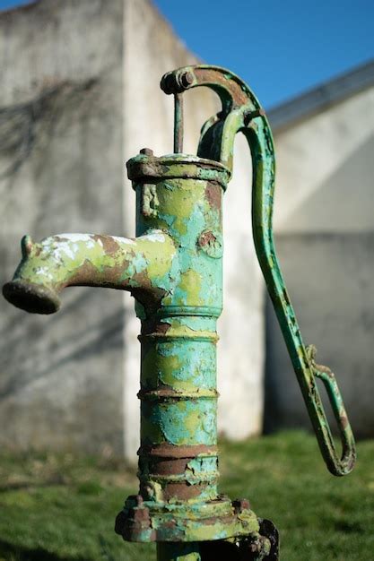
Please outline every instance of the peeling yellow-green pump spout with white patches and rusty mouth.
[{"label": "peeling yellow-green pump spout with white patches and rusty mouth", "polygon": [[162,281],[176,253],[170,236],[150,230],[136,238],[94,234],[59,234],[34,243],[22,238],[22,261],[4,298],[33,314],[53,314],[58,293],[68,286],[129,290],[141,303],[160,305]]}]

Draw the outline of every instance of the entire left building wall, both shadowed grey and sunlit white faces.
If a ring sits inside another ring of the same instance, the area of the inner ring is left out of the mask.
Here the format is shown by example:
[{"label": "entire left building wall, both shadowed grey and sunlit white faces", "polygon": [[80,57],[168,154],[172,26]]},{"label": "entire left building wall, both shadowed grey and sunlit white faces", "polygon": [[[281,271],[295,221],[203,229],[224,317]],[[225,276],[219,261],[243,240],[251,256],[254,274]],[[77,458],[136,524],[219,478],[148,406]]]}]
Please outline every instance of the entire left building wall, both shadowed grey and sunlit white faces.
[{"label": "entire left building wall, both shadowed grey and sunlit white faces", "polygon": [[[172,99],[160,78],[197,59],[148,0],[41,0],[2,13],[0,53],[5,281],[25,233],[36,240],[64,231],[134,235],[135,196],[124,163],[144,146],[171,151]],[[187,98],[185,151],[195,152],[217,101],[208,91]],[[230,437],[257,433],[262,421],[262,285],[250,241],[249,186],[248,149],[239,142],[225,196],[219,344],[220,430]],[[134,302],[127,293],[91,288],[66,290],[62,299],[58,315],[47,317],[0,300],[0,444],[134,459]]]}]

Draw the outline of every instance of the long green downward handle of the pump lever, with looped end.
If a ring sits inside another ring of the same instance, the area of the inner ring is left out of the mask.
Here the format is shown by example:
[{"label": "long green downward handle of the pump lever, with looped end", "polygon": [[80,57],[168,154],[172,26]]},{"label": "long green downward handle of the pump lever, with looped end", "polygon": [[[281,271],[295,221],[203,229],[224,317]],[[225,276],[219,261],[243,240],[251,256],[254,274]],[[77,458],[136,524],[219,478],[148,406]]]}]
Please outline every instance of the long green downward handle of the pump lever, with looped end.
[{"label": "long green downward handle of the pump lever, with looped end", "polygon": [[[257,257],[283,332],[292,366],[300,384],[309,418],[317,436],[319,448],[328,470],[334,475],[342,476],[352,470],[356,459],[352,429],[335,378],[330,377],[326,384],[326,377],[319,375],[322,371],[315,366],[313,353],[310,352],[312,348],[306,348],[302,341],[299,324],[284,284],[275,253],[272,228],[274,149],[273,143],[269,142],[270,132],[266,131],[267,122],[264,117],[261,120],[261,125],[259,124],[257,127],[250,125],[243,130],[248,139],[253,160],[252,228]],[[343,446],[341,458],[336,451],[326,412],[317,389],[316,376],[323,379],[335,412]]]}]

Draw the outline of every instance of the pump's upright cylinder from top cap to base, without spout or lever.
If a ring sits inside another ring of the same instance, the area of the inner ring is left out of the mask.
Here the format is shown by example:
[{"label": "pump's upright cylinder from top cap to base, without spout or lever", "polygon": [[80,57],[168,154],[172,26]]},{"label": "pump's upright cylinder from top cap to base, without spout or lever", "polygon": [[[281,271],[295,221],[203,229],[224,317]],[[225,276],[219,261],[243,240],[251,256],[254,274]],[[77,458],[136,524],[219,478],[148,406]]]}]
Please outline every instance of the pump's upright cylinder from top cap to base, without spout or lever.
[{"label": "pump's upright cylinder from top cap to base, without spout or lever", "polygon": [[136,304],[142,320],[140,494],[157,504],[213,500],[216,320],[222,311],[222,191],[228,172],[211,161],[157,159],[149,151],[130,160],[128,170],[137,235],[166,230],[177,248],[170,290],[158,309]]}]

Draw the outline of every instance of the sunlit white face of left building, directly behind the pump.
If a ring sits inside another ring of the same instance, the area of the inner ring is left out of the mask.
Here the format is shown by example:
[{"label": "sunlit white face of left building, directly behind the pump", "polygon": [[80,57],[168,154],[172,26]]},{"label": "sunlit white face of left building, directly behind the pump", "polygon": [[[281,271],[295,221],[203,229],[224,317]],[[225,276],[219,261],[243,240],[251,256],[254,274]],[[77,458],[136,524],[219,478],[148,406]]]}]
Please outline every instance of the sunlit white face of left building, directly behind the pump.
[{"label": "sunlit white face of left building, directly behind the pump", "polygon": [[[126,3],[124,57],[124,160],[144,146],[156,155],[172,151],[173,100],[159,87],[161,75],[172,68],[196,64],[170,30],[167,22],[146,0]],[[157,54],[154,46],[157,45]],[[157,55],[157,56],[155,56]],[[201,125],[219,109],[218,98],[208,90],[185,95],[184,151],[196,153]],[[240,139],[241,140],[241,139]],[[237,142],[234,176],[224,196],[224,311],[219,321],[218,387],[219,431],[230,438],[258,434],[262,428],[264,322],[263,290],[251,241],[251,162],[244,139]],[[135,229],[135,194],[130,182],[124,188],[126,234]],[[133,301],[125,294],[125,441],[133,455],[139,444],[138,406],[139,331]],[[134,427],[126,431],[131,423]]]}]

